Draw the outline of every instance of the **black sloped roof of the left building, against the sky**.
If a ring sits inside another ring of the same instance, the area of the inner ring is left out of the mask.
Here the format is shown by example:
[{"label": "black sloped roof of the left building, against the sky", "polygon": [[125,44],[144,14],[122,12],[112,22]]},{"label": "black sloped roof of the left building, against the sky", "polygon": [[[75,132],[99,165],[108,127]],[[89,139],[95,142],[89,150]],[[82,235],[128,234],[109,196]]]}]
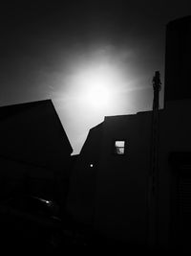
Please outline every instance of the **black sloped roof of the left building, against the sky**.
[{"label": "black sloped roof of the left building, against the sky", "polygon": [[73,152],[52,100],[1,106],[0,140],[0,156],[40,165]]}]

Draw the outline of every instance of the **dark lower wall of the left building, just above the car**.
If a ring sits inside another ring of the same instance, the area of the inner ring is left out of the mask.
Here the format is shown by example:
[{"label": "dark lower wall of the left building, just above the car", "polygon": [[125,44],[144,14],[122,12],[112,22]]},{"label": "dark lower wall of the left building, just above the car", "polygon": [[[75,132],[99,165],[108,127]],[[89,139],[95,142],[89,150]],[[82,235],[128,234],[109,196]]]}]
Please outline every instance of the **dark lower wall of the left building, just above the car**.
[{"label": "dark lower wall of the left building, just above the car", "polygon": [[53,198],[56,180],[53,170],[0,157],[0,198],[15,194],[32,194]]}]

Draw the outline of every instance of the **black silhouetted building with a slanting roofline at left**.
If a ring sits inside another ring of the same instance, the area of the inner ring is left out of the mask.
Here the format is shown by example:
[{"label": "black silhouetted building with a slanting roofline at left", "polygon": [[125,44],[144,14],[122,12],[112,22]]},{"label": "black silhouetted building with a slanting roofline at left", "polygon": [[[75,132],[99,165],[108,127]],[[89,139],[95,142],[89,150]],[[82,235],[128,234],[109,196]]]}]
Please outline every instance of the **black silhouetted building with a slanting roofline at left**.
[{"label": "black silhouetted building with a slanting roofline at left", "polygon": [[64,200],[73,151],[51,100],[0,107],[0,196]]}]

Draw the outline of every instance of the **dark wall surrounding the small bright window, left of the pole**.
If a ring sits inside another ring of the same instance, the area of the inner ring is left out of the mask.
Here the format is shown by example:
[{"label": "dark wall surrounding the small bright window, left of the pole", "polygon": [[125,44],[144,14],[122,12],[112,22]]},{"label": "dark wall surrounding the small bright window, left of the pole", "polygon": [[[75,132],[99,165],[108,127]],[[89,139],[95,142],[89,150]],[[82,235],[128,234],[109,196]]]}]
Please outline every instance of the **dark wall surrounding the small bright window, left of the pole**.
[{"label": "dark wall surrounding the small bright window, left of the pole", "polygon": [[[106,117],[92,128],[76,161],[68,209],[99,232],[146,243],[151,113]],[[125,155],[114,154],[126,140]],[[90,164],[94,164],[94,168]]]}]

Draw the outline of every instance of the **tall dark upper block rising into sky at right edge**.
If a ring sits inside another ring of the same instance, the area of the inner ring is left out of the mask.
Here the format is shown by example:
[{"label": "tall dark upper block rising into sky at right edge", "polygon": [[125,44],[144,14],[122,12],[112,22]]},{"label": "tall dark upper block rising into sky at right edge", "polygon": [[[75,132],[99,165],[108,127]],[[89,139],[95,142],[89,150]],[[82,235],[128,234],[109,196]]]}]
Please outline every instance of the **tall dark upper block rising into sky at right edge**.
[{"label": "tall dark upper block rising into sky at right edge", "polygon": [[191,99],[191,16],[166,27],[164,101]]}]

